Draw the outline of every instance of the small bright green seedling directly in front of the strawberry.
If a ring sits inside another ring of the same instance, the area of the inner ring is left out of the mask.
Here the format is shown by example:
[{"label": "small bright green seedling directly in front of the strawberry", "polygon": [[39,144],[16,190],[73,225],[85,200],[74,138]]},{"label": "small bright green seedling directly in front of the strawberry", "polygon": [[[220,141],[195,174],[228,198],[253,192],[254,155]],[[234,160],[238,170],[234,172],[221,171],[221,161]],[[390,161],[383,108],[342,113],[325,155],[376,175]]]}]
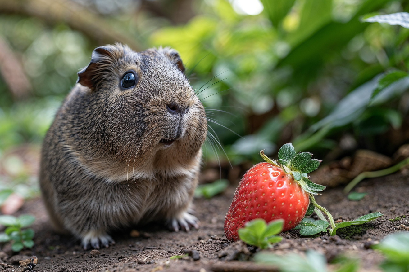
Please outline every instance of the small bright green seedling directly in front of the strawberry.
[{"label": "small bright green seedling directly in front of the strawberry", "polygon": [[249,245],[258,248],[271,248],[273,243],[278,243],[283,237],[275,235],[283,230],[284,220],[271,221],[268,225],[264,219],[254,219],[238,230],[238,237]]}]

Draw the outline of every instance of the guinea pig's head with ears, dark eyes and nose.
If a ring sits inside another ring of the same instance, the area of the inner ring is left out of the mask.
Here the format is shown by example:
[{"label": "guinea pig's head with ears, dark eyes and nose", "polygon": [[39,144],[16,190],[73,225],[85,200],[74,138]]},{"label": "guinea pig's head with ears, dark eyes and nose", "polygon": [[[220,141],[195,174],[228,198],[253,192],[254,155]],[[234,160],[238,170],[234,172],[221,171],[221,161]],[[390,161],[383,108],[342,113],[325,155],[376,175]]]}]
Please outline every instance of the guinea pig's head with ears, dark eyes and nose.
[{"label": "guinea pig's head with ears, dark eyes and nose", "polygon": [[174,49],[101,46],[78,76],[78,83],[88,87],[83,100],[94,131],[89,137],[104,158],[130,160],[135,167],[155,156],[182,163],[200,153],[207,134],[205,110]]}]

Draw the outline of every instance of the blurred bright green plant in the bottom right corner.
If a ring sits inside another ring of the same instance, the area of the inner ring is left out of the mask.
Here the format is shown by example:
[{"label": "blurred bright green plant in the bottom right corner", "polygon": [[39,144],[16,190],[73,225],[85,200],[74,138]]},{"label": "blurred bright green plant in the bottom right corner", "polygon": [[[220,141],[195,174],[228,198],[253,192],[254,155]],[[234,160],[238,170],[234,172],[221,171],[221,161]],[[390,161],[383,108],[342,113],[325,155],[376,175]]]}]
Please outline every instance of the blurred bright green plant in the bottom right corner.
[{"label": "blurred bright green plant in the bottom right corner", "polygon": [[385,272],[409,271],[409,233],[394,233],[372,248],[385,255],[386,260],[380,265]]}]

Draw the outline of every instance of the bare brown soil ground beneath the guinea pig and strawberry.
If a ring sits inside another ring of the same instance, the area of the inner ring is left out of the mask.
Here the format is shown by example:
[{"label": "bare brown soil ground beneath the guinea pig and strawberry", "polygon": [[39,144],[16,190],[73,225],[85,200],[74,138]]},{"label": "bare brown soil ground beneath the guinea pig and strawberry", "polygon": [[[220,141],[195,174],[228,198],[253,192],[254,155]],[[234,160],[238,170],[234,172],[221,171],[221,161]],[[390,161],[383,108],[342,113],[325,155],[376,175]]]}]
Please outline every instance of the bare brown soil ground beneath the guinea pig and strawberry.
[{"label": "bare brown soil ground beneath the guinea pig and strawberry", "polygon": [[[36,233],[34,248],[12,256],[10,248],[5,246],[0,252],[0,259],[1,262],[16,265],[18,261],[34,254],[38,257],[38,265],[34,270],[43,272],[274,271],[273,268],[259,267],[248,261],[234,261],[251,259],[255,251],[240,242],[229,243],[225,240],[223,221],[234,190],[234,186],[231,186],[225,193],[212,199],[195,199],[196,216],[201,221],[199,230],[170,232],[161,223],[137,227],[137,232],[132,232],[134,237],[131,236],[132,229],[115,233],[113,238],[116,244],[98,251],[85,251],[73,237],[54,233],[49,226],[43,203],[40,199],[33,199],[25,203],[19,213],[36,217],[33,226]],[[368,192],[361,201],[349,201],[342,194],[342,188],[328,188],[323,196],[316,199],[332,213],[335,220],[355,219],[377,211],[382,212],[383,217],[367,223],[363,228],[355,226],[353,232],[339,230],[339,237],[335,239],[327,235],[301,237],[295,230],[285,232],[281,234],[283,241],[271,251],[283,254],[313,249],[325,254],[328,261],[344,254],[360,258],[362,271],[378,271],[375,266],[382,261],[382,257],[366,248],[387,234],[406,231],[400,230],[401,224],[409,226],[409,173],[400,172],[366,180],[359,185],[358,190]],[[402,215],[406,218],[389,220]],[[200,259],[193,260],[191,256],[170,258],[184,254],[185,249],[197,250]]]}]

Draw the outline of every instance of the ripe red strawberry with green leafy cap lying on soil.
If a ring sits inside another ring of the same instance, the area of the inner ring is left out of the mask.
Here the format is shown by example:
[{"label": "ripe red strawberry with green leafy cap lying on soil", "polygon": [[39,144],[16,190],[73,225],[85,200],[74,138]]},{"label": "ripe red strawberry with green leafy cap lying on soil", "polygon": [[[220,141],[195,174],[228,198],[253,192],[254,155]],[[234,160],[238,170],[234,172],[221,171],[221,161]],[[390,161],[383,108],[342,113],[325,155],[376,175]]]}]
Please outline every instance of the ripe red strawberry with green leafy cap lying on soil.
[{"label": "ripe red strawberry with green leafy cap lying on soil", "polygon": [[307,210],[309,214],[314,211],[310,194],[319,195],[325,188],[312,183],[307,175],[321,163],[311,159],[311,153],[296,154],[289,143],[280,148],[277,161],[265,156],[263,151],[260,155],[267,162],[256,164],[245,173],[227,212],[224,231],[231,241],[239,239],[238,228],[256,218],[267,223],[284,219],[283,231],[291,230]]}]

